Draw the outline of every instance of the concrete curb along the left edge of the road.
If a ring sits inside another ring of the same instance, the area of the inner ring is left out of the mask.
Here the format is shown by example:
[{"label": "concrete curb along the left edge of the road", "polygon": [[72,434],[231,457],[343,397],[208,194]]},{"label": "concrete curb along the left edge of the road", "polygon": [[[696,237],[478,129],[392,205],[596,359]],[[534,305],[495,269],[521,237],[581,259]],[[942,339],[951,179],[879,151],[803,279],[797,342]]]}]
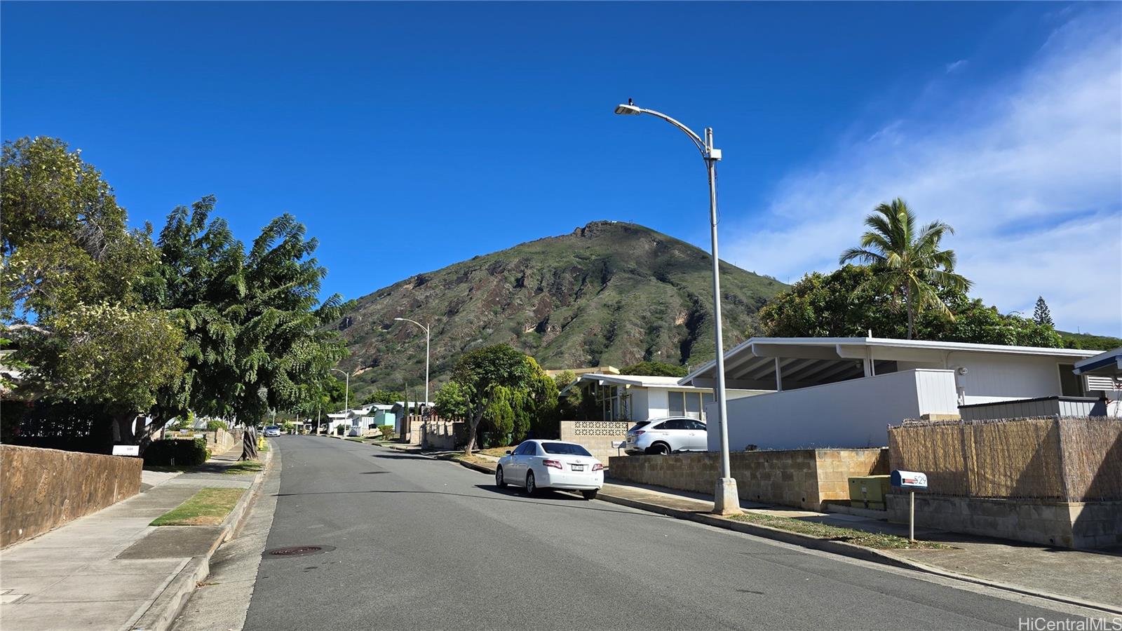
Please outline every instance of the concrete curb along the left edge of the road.
[{"label": "concrete curb along the left edge of the road", "polygon": [[172,628],[175,619],[183,611],[184,605],[191,595],[210,576],[210,559],[218,548],[233,538],[233,534],[241,528],[242,521],[248,513],[250,502],[257,497],[257,491],[265,482],[265,474],[273,467],[273,448],[265,452],[265,463],[261,470],[257,472],[254,482],[246,490],[246,493],[238,500],[238,504],[230,511],[230,514],[222,520],[222,530],[214,539],[205,555],[193,557],[186,565],[172,577],[167,586],[160,592],[156,600],[140,614],[140,618],[132,623],[129,629],[134,631],[165,631]]}]

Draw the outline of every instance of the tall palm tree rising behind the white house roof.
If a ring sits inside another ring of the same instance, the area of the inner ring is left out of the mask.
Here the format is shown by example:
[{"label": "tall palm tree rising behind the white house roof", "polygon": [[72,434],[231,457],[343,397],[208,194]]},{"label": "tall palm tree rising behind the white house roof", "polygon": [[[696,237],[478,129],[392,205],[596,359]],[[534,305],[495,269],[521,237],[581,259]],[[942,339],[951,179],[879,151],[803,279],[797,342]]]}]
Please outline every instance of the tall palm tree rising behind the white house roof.
[{"label": "tall palm tree rising behind the white house roof", "polygon": [[954,320],[955,316],[939,298],[938,290],[969,291],[971,282],[955,274],[955,252],[939,249],[944,235],[955,229],[942,221],[932,221],[916,230],[916,213],[904,200],[882,203],[865,218],[870,229],[861,236],[861,247],[842,253],[838,263],[850,260],[872,267],[871,287],[899,300],[903,295],[908,309],[908,339],[916,330],[916,314],[935,308]]}]

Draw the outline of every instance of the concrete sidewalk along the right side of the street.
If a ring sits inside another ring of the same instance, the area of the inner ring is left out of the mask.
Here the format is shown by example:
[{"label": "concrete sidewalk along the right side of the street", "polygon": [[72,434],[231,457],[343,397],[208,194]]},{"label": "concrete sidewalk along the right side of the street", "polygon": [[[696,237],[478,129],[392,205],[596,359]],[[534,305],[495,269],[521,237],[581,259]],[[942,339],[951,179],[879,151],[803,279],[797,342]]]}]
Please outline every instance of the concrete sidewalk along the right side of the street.
[{"label": "concrete sidewalk along the right side of the street", "polygon": [[[494,473],[498,458],[476,454],[487,464],[461,463],[469,468]],[[609,474],[610,475],[610,474]],[[599,499],[625,504],[632,507],[653,510],[683,519],[695,519],[711,525],[730,528],[752,534],[781,539],[797,545],[806,545],[827,551],[835,551],[842,546],[830,545],[830,540],[795,534],[776,529],[734,522],[709,515],[712,511],[710,496],[674,491],[670,488],[623,483],[607,478]],[[908,537],[907,524],[889,523],[868,514],[837,514],[787,509],[783,506],[758,504],[742,500],[741,507],[746,512],[766,513],[803,521],[813,521],[864,530]],[[868,512],[866,512],[868,513]],[[905,549],[876,550],[875,557],[881,563],[893,563],[955,577],[976,579],[976,582],[999,588],[1012,589],[1026,594],[1038,595],[1051,600],[1092,606],[1122,614],[1122,550],[1085,551],[1067,548],[1043,548],[1030,543],[1020,543],[1004,539],[987,539],[930,529],[916,529],[917,539],[938,541],[953,546],[949,549]],[[819,543],[826,543],[819,545]],[[845,545],[845,548],[857,546]],[[867,550],[867,549],[864,549]],[[849,556],[863,556],[857,550],[849,550]]]}]

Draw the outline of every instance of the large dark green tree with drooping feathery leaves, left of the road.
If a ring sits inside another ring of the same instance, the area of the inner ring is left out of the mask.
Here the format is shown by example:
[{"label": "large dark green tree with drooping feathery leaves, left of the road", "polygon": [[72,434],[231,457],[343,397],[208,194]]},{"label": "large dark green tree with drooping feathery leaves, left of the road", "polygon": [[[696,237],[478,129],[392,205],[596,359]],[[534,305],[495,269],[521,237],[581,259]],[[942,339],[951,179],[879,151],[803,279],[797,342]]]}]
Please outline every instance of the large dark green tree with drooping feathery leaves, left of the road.
[{"label": "large dark green tree with drooping feathery leaves, left of the road", "polygon": [[178,208],[160,232],[158,301],[183,323],[187,385],[167,392],[168,412],[192,409],[257,423],[269,410],[322,405],[328,369],[344,354],[323,324],[341,299],[319,301],[327,271],[312,256],[315,239],[283,214],[249,252],[221,219],[213,198]]}]

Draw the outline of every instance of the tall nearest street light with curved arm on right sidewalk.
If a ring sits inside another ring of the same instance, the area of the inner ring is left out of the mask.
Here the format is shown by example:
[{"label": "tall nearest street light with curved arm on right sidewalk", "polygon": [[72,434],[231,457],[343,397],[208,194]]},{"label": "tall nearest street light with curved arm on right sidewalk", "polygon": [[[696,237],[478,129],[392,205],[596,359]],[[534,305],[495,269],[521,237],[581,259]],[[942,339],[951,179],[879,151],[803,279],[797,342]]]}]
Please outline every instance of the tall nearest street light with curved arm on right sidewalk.
[{"label": "tall nearest street light with curved arm on right sidewalk", "polygon": [[720,258],[717,257],[717,162],[720,161],[720,149],[712,146],[712,128],[707,127],[705,139],[686,127],[681,122],[669,116],[654,110],[643,109],[627,99],[627,103],[616,107],[616,113],[623,116],[638,116],[649,113],[661,118],[674,127],[681,129],[693,140],[693,145],[701,152],[706,171],[709,174],[709,236],[712,239],[712,314],[716,323],[717,338],[717,427],[720,428],[720,477],[717,478],[717,488],[712,497],[712,512],[727,515],[741,512],[741,500],[736,493],[736,478],[733,477],[732,467],[728,464],[728,408],[725,400],[725,341],[720,331]]}]

